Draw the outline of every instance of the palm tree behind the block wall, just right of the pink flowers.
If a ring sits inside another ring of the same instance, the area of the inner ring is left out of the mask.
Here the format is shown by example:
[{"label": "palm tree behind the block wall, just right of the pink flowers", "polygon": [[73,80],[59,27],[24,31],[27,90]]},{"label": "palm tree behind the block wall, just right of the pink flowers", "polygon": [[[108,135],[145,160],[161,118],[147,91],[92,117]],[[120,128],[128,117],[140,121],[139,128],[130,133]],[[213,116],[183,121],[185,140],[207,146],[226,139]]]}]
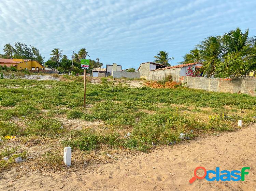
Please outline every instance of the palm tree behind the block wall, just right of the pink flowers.
[{"label": "palm tree behind the block wall, just right of the pink flowers", "polygon": [[214,73],[215,66],[218,62],[221,62],[223,54],[221,37],[209,36],[201,42],[201,45],[197,45],[197,48],[201,52],[203,75],[211,77]]}]

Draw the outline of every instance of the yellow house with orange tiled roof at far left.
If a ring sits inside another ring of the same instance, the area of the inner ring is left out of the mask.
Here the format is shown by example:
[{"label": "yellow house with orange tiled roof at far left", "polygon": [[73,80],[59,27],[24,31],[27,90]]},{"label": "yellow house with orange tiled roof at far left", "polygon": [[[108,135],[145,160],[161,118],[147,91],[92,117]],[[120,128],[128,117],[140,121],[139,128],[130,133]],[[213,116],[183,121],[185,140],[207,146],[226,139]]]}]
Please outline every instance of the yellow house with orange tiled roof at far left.
[{"label": "yellow house with orange tiled roof at far left", "polygon": [[1,66],[6,66],[6,67],[15,67],[17,70],[44,70],[45,67],[41,65],[39,62],[36,60],[29,60],[29,59],[5,59],[5,58],[0,58],[0,65]]}]

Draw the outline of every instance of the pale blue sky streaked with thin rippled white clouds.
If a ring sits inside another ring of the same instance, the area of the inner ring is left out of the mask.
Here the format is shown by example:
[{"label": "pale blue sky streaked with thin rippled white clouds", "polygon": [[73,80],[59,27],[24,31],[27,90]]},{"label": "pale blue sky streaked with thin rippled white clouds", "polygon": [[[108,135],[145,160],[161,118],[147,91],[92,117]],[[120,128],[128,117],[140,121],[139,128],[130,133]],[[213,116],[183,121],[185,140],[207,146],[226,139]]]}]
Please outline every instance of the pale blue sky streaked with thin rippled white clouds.
[{"label": "pale blue sky streaked with thin rippled white clouds", "polygon": [[15,41],[37,47],[44,61],[54,48],[70,59],[86,48],[104,68],[138,69],[164,50],[177,65],[210,35],[239,27],[256,36],[255,7],[255,0],[1,0],[0,53]]}]

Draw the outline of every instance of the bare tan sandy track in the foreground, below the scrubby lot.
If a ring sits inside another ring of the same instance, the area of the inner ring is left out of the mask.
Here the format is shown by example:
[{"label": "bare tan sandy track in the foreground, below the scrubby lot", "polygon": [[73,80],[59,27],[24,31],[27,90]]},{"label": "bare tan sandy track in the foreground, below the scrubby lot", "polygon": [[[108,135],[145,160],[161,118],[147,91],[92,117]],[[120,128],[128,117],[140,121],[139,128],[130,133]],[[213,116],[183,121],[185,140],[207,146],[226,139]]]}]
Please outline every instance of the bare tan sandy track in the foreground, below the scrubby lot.
[{"label": "bare tan sandy track in the foreground, below the scrubby lot", "polygon": [[[219,136],[204,136],[165,146],[152,153],[126,155],[83,172],[0,174],[0,190],[256,190],[256,124]],[[75,157],[75,156],[72,156]],[[251,167],[245,181],[189,184],[194,169],[241,170]],[[18,178],[17,178],[18,177]]]}]

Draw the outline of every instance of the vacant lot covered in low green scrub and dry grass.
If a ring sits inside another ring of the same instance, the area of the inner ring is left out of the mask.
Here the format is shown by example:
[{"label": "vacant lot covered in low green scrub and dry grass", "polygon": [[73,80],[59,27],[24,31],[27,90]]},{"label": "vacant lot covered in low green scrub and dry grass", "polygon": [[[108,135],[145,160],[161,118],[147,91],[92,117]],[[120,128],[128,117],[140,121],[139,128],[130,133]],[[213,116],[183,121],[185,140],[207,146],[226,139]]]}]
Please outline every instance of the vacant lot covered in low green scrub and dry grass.
[{"label": "vacant lot covered in low green scrub and dry grass", "polygon": [[[105,78],[87,83],[84,108],[83,82],[71,80],[0,80],[0,169],[80,170],[174,144],[180,133],[193,139],[233,131],[239,119],[243,125],[255,121],[256,98],[246,94],[137,88],[122,81],[113,88]],[[62,163],[65,146],[72,147],[70,168]],[[17,156],[29,158],[15,163]]]}]

